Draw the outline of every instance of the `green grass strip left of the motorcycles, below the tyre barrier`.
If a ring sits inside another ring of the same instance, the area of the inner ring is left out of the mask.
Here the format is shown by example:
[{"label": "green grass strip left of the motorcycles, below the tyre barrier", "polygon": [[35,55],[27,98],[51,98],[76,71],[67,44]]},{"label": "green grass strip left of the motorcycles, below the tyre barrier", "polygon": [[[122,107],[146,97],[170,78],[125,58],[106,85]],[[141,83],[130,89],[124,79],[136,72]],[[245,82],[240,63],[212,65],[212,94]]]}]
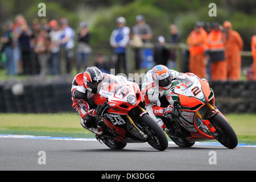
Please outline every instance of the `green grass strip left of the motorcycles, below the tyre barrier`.
[{"label": "green grass strip left of the motorcycles, below the tyre barrier", "polygon": [[79,115],[59,114],[0,114],[0,134],[43,135],[51,137],[94,137],[85,130]]}]

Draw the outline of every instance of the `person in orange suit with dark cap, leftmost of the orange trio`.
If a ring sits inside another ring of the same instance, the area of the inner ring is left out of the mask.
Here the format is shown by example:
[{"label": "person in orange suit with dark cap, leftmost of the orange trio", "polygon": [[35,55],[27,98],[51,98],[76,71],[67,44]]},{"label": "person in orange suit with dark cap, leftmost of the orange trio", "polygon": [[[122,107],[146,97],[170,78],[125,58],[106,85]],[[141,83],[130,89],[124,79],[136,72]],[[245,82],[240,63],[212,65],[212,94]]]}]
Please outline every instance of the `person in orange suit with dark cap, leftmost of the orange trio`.
[{"label": "person in orange suit with dark cap, leftmost of the orange trio", "polygon": [[194,73],[200,78],[205,78],[205,56],[204,56],[204,42],[206,36],[201,31],[200,24],[196,23],[194,30],[189,34],[187,44],[189,48],[189,72]]}]

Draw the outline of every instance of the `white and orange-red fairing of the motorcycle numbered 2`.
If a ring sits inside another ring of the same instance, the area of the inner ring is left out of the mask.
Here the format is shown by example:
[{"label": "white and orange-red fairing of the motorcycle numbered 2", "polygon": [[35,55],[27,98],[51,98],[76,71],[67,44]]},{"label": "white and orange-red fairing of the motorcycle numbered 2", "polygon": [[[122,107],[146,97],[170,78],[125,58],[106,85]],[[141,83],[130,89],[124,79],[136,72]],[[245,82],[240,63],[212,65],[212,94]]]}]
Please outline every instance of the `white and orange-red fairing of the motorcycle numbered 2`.
[{"label": "white and orange-red fairing of the motorcycle numbered 2", "polygon": [[196,111],[205,105],[206,102],[213,100],[214,94],[209,88],[208,82],[198,80],[194,77],[180,76],[180,84],[174,86],[173,92],[179,96],[182,108],[180,110],[180,125],[187,129],[191,136],[200,139],[213,139],[206,124],[208,121],[200,120]]}]

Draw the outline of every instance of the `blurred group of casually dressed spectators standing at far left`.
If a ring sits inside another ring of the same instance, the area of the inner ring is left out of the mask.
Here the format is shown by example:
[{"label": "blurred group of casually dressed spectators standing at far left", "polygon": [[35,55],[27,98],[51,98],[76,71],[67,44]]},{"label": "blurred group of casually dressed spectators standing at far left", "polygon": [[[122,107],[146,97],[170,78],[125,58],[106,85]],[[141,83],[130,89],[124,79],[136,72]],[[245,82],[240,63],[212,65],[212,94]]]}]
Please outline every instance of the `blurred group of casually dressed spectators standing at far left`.
[{"label": "blurred group of casually dressed spectators standing at far left", "polygon": [[82,22],[80,31],[69,26],[68,20],[61,18],[48,22],[34,19],[31,28],[22,15],[15,21],[6,22],[6,33],[1,38],[1,53],[5,52],[7,75],[58,75],[71,73],[77,39],[77,71],[87,67],[90,33],[88,24]]}]

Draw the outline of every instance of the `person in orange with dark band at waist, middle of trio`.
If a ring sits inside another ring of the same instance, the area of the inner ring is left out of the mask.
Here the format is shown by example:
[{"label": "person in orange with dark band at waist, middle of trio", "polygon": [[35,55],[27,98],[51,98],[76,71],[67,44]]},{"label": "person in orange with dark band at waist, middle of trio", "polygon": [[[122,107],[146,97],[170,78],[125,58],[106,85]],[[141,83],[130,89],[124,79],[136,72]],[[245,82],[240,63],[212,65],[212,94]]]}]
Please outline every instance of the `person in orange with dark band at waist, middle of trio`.
[{"label": "person in orange with dark band at waist, middle of trio", "polygon": [[210,60],[211,79],[213,81],[225,81],[227,77],[227,70],[223,34],[217,22],[212,24],[212,30],[209,32],[206,52],[207,55],[209,55]]}]

